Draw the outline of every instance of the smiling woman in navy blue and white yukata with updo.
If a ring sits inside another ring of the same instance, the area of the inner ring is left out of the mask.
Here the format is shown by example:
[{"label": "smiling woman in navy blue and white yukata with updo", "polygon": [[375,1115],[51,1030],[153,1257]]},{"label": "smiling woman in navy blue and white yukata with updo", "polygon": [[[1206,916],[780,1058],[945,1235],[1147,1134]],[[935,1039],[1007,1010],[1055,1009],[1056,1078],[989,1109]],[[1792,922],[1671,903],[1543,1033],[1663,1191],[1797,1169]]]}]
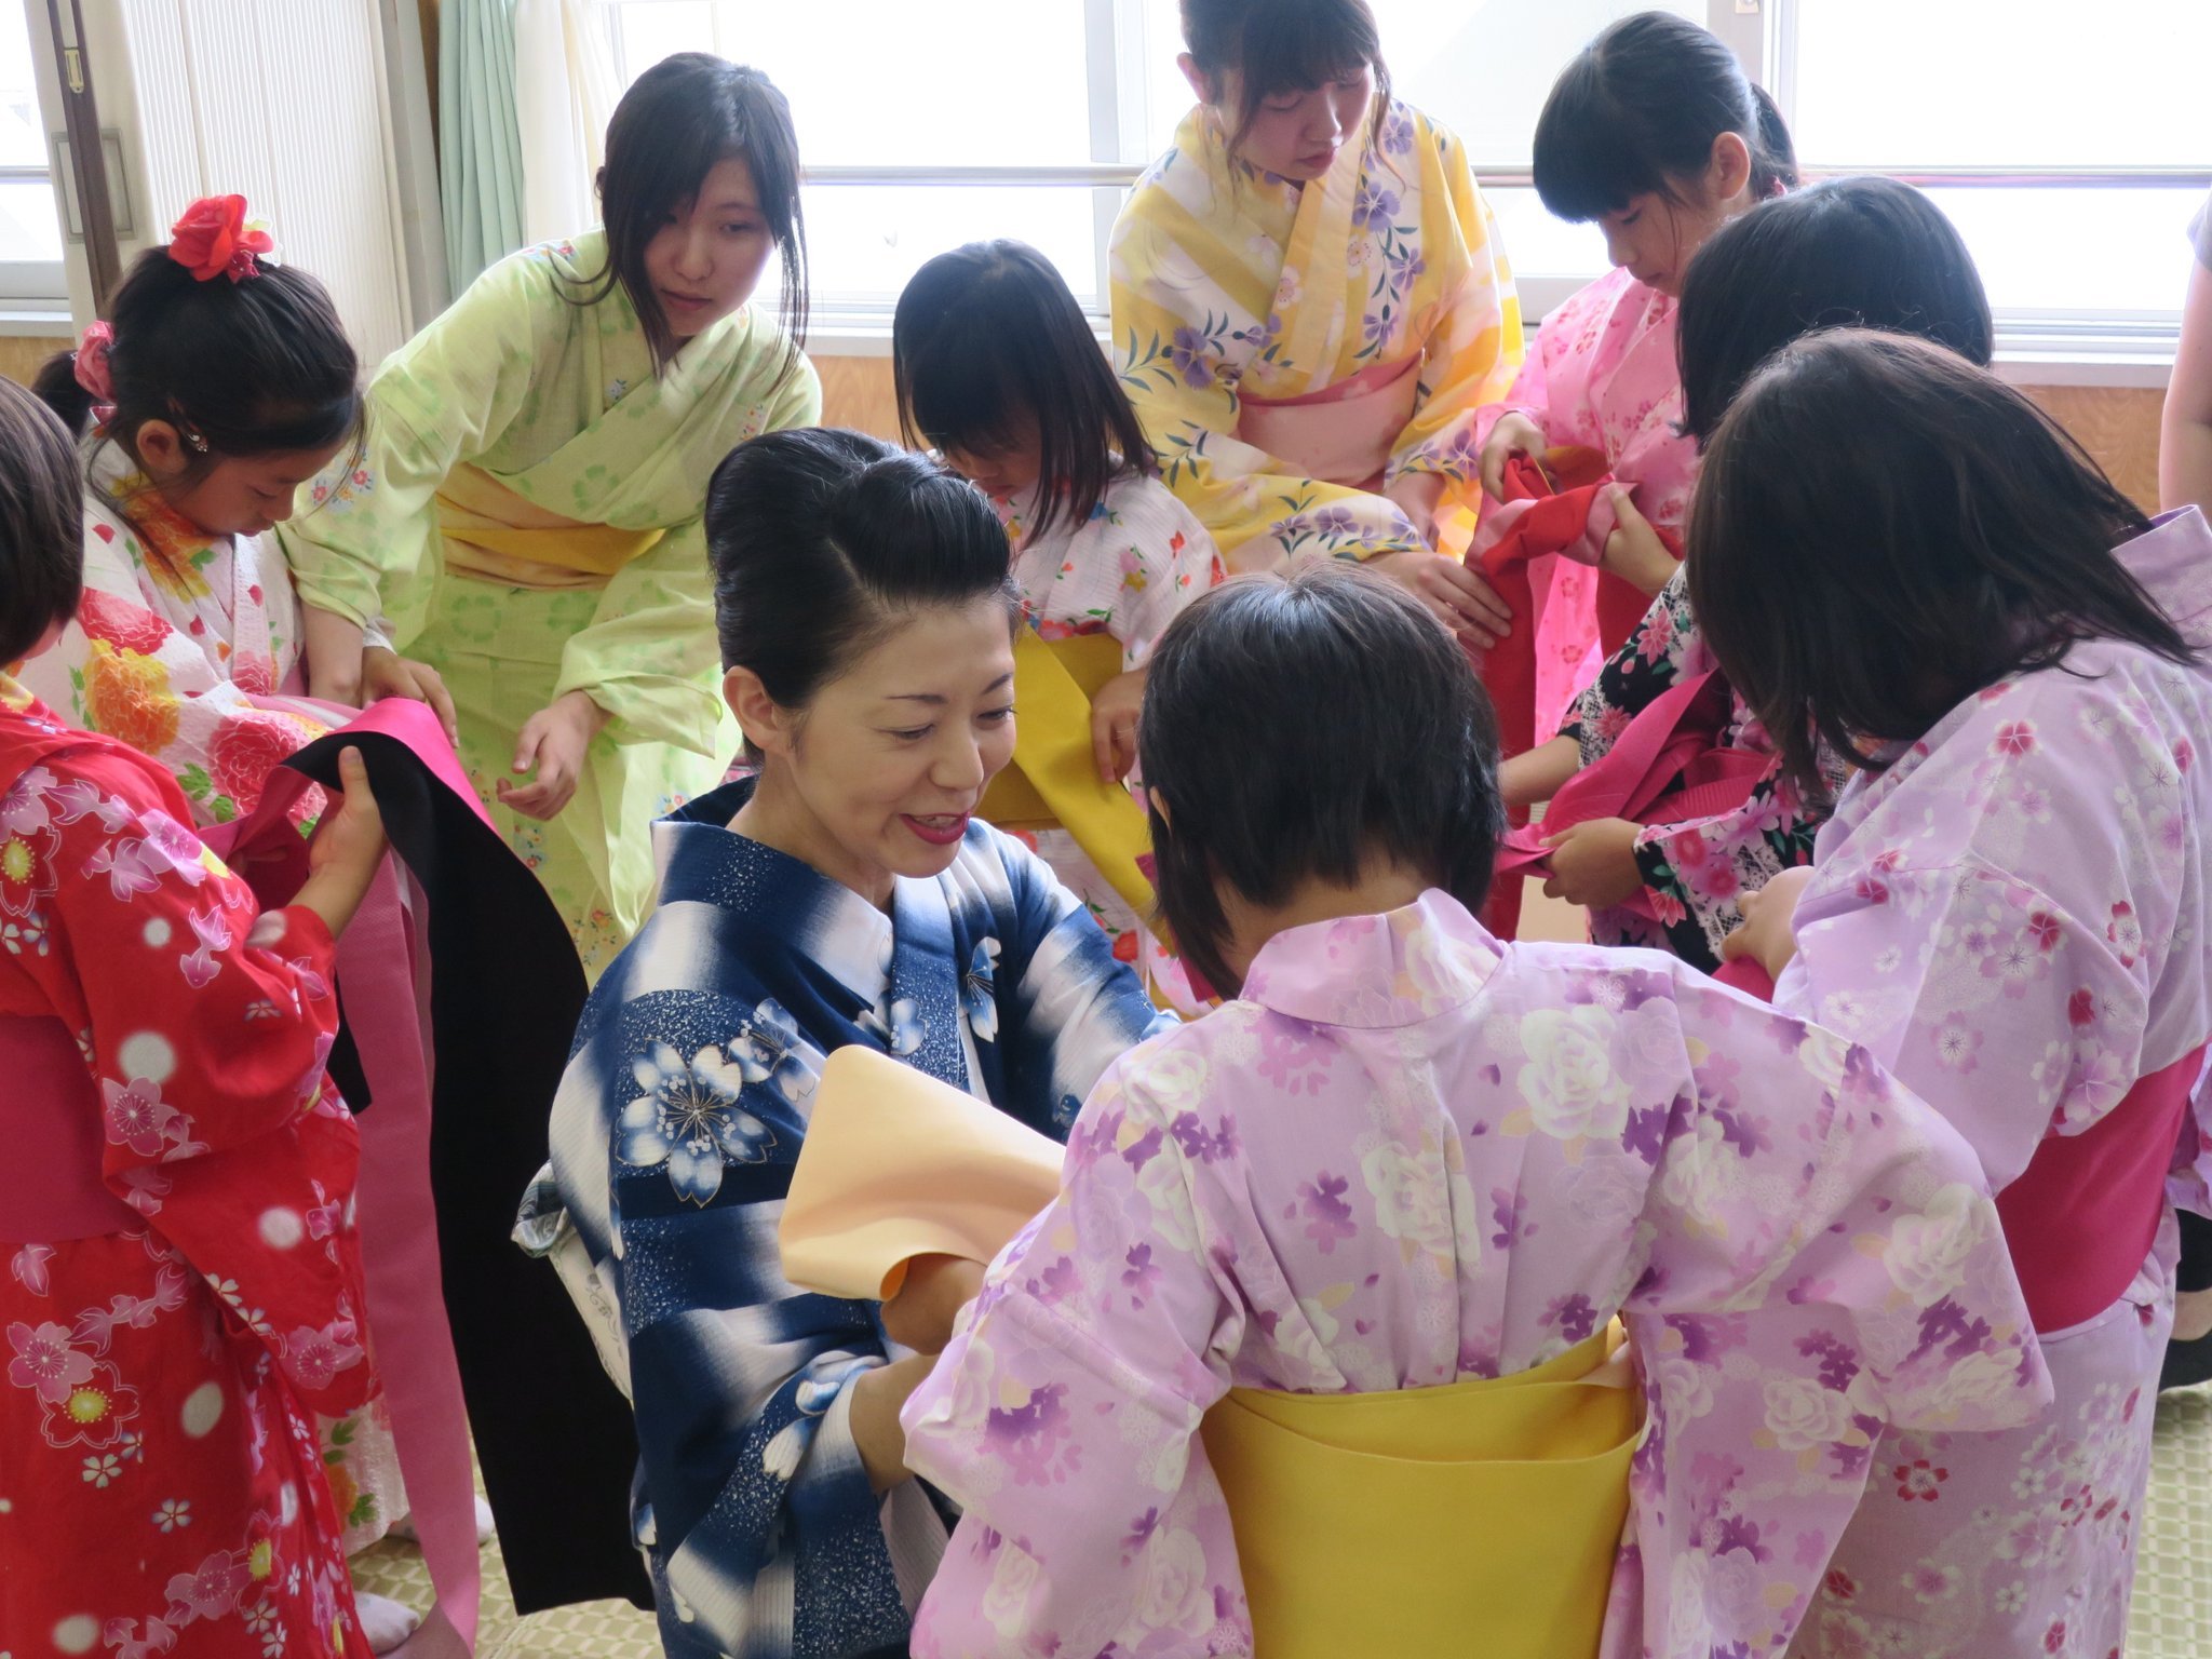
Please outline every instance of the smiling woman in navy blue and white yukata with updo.
[{"label": "smiling woman in navy blue and white yukata with updo", "polygon": [[947,1540],[898,1429],[929,1358],[776,1250],[823,1055],[869,1044],[1064,1139],[1164,1018],[971,816],[1013,754],[984,498],[860,434],[776,431],[721,465],[706,529],[759,774],[655,825],[659,907],[584,1011],[518,1237],[606,1314],[668,1655],[902,1655]]}]

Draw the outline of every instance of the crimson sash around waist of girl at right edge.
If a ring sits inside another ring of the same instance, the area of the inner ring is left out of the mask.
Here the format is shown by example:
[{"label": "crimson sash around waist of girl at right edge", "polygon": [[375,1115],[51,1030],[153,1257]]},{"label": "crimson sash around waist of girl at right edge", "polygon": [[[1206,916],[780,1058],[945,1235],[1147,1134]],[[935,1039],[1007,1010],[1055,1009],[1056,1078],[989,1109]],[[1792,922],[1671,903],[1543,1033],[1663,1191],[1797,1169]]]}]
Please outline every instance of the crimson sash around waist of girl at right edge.
[{"label": "crimson sash around waist of girl at right edge", "polygon": [[2135,1079],[2079,1135],[2048,1135],[1997,1219],[2039,1334],[2095,1318],[2128,1290],[2166,1217],[2166,1172],[2205,1051]]}]

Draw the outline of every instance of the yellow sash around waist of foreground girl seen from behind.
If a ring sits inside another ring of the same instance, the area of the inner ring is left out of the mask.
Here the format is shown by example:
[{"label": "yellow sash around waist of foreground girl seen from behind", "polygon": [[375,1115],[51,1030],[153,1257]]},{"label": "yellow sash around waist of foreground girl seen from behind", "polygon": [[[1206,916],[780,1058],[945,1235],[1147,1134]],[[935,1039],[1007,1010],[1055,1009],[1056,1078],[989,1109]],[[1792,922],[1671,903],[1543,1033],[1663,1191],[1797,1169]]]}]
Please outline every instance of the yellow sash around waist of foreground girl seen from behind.
[{"label": "yellow sash around waist of foreground girl seen from behind", "polygon": [[1201,1433],[1256,1659],[1593,1659],[1641,1416],[1593,1376],[1621,1343],[1433,1389],[1230,1389]]}]

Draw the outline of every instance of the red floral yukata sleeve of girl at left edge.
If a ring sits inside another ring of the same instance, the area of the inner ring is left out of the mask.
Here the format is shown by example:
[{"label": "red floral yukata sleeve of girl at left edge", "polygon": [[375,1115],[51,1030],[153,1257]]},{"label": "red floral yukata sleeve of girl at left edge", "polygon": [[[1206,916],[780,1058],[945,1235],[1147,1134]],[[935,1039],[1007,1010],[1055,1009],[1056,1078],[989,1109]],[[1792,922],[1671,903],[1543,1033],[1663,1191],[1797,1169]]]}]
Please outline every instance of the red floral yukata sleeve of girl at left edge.
[{"label": "red floral yukata sleeve of girl at left edge", "polygon": [[84,1048],[106,1186],[307,1402],[352,1411],[374,1374],[347,1221],[358,1137],[323,1073],[330,931],[307,909],[259,914],[139,763],[62,752],[31,781],[22,841],[51,927],[18,960]]}]

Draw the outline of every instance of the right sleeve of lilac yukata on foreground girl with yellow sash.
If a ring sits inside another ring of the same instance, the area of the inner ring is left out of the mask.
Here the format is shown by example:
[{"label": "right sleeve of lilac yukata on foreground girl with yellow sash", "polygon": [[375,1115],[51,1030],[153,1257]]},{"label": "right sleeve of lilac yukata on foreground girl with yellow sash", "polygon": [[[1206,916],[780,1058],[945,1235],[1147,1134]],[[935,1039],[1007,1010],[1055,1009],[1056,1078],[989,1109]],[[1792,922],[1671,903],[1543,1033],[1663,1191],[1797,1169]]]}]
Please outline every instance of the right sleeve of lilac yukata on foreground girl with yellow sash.
[{"label": "right sleeve of lilac yukata on foreground girl with yellow sash", "polygon": [[1778,1652],[1882,1425],[2008,1429],[2051,1385],[1973,1148],[1865,1048],[1679,978],[1699,1057],[1650,1126],[1624,1307],[1644,1632],[1663,1659]]}]

